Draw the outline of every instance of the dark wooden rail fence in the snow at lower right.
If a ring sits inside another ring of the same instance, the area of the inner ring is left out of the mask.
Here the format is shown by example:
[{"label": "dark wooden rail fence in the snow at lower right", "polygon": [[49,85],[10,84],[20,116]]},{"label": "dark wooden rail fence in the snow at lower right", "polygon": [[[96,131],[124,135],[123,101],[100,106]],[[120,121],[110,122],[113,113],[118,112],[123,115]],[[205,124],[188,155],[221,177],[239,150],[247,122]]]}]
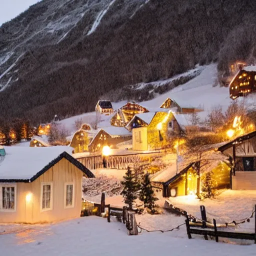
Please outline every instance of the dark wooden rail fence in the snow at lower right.
[{"label": "dark wooden rail fence in the snow at lower right", "polygon": [[[255,210],[256,210],[256,204],[255,204]],[[205,215],[206,216],[206,215]],[[191,228],[191,224],[189,223],[188,217],[186,218],[186,232],[189,239],[191,239],[191,234],[200,234],[204,236],[205,240],[208,240],[207,235],[214,236],[215,241],[218,242],[218,237],[226,237],[226,238],[236,238],[236,239],[247,239],[247,240],[254,240],[254,243],[256,243],[256,214],[254,211],[254,233],[246,233],[246,232],[232,232],[232,231],[225,231],[225,230],[217,230],[217,224],[216,220],[213,219],[213,227],[214,229],[210,229],[206,227],[206,224],[204,221],[202,221],[201,226],[193,227]]]}]

